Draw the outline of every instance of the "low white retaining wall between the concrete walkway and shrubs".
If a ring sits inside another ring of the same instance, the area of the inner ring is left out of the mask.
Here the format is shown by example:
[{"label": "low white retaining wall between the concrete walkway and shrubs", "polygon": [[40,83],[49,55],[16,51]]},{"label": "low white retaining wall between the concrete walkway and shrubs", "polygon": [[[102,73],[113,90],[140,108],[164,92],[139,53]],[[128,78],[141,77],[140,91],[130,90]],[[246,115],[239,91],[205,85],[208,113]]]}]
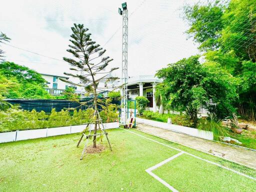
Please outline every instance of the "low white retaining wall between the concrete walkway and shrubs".
[{"label": "low white retaining wall between the concrete walkway and shrubs", "polygon": [[176,124],[167,124],[166,122],[159,122],[159,121],[155,121],[155,120],[149,120],[149,119],[138,118],[138,117],[136,118],[136,122],[140,122],[140,123],[144,123],[144,124],[148,124],[151,126],[168,129],[168,130],[173,130],[176,132],[181,132],[181,133],[189,134],[191,136],[205,138],[208,140],[213,140],[213,133],[211,131],[200,130],[197,128],[180,126],[180,125],[176,125]]}]

